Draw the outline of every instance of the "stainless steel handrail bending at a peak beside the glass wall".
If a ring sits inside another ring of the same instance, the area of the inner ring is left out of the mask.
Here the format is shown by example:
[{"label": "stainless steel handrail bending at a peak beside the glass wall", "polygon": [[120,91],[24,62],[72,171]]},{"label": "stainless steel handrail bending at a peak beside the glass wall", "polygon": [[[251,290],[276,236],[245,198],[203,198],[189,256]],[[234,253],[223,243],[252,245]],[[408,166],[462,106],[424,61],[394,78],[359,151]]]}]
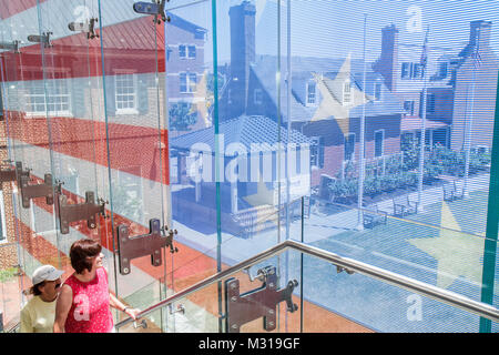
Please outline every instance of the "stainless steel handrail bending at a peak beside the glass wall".
[{"label": "stainless steel handrail bending at a peak beside the glass wall", "polygon": [[[162,308],[164,306],[167,306],[183,297],[186,297],[187,295],[197,292],[198,290],[206,287],[211,284],[214,284],[225,277],[228,277],[242,270],[245,270],[254,264],[257,264],[275,254],[278,254],[287,248],[296,250],[301,253],[308,254],[312,256],[319,257],[322,260],[325,260],[327,262],[330,262],[337,266],[357,272],[359,274],[364,274],[374,278],[381,280],[386,283],[406,288],[408,291],[431,297],[434,300],[444,302],[446,304],[449,304],[451,306],[456,306],[458,308],[465,310],[467,312],[477,314],[479,316],[486,317],[488,320],[491,320],[493,322],[499,322],[499,310],[496,308],[492,305],[478,302],[475,300],[471,300],[469,297],[459,295],[455,292],[450,292],[410,277],[406,277],[389,271],[386,271],[380,267],[376,267],[363,262],[358,262],[356,260],[349,258],[349,257],[343,257],[335,253],[310,246],[301,242],[296,241],[284,241],[264,252],[261,252],[234,266],[231,266],[215,275],[212,275],[210,277],[206,277],[198,283],[192,285],[191,287],[187,287],[170,297],[166,297],[165,300],[145,308],[139,314],[139,318],[146,316],[147,314],[151,314],[152,312]],[[120,323],[116,323],[115,327],[120,328],[129,323],[133,322],[131,317],[121,321]]]}]

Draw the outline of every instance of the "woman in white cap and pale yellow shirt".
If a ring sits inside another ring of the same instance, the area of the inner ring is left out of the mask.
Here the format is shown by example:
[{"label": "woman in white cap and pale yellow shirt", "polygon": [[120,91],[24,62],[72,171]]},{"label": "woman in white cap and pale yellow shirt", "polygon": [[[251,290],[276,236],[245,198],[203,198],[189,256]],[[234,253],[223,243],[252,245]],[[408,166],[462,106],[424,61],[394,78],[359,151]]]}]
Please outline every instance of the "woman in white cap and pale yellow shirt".
[{"label": "woman in white cap and pale yellow shirt", "polygon": [[33,272],[33,285],[29,290],[33,297],[21,311],[21,333],[52,333],[63,273],[52,265],[42,265]]}]

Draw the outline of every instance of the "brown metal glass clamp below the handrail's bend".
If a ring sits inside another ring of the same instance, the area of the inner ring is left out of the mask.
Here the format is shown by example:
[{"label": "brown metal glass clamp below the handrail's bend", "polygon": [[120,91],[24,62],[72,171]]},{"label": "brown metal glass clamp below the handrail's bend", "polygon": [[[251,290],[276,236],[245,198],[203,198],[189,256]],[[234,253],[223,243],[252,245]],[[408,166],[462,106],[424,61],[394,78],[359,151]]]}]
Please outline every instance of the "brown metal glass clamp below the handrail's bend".
[{"label": "brown metal glass clamp below the handrail's bend", "polygon": [[293,290],[298,285],[289,281],[285,288],[277,290],[277,274],[274,266],[258,271],[263,285],[240,295],[240,281],[231,277],[225,281],[225,325],[227,333],[240,333],[241,326],[263,317],[263,327],[271,332],[277,324],[277,304],[286,301],[287,311],[295,312],[298,306],[293,303]]}]

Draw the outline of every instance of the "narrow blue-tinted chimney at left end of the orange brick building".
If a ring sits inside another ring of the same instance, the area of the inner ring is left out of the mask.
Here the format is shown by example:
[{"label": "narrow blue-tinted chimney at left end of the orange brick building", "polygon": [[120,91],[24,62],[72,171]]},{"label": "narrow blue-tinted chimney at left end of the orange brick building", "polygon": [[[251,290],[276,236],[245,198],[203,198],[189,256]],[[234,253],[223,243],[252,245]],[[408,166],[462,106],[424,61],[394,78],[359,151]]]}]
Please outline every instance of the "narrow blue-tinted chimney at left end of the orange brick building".
[{"label": "narrow blue-tinted chimney at left end of the orange brick building", "polygon": [[398,29],[395,24],[381,29],[381,54],[373,64],[373,70],[385,78],[385,84],[394,91],[397,80]]}]

